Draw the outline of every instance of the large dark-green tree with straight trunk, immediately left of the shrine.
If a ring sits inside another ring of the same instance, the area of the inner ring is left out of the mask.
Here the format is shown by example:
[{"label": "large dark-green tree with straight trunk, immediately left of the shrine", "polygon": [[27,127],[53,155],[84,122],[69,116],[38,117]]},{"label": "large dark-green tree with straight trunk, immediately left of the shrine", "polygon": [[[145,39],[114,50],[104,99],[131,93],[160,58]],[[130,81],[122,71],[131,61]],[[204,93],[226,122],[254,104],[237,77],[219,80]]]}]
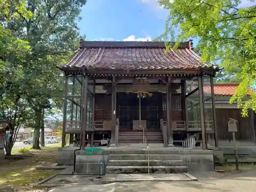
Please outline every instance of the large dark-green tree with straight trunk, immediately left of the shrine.
[{"label": "large dark-green tree with straight trunk, immediately left of the shrine", "polygon": [[80,7],[86,0],[46,0],[28,1],[28,10],[33,16],[25,18],[24,39],[29,42],[32,54],[29,59],[33,69],[28,68],[30,78],[27,84],[27,99],[35,114],[35,134],[33,148],[39,147],[39,129],[43,109],[61,107],[63,97],[63,77],[57,66],[67,61],[75,51],[79,40],[77,21]]}]

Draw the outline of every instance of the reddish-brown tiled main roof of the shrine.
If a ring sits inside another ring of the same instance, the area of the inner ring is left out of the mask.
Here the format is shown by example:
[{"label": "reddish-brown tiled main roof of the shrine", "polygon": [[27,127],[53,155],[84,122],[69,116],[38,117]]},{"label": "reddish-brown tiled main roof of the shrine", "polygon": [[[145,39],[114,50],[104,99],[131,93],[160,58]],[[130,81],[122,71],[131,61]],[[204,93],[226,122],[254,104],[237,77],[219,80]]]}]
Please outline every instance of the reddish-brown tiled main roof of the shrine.
[{"label": "reddish-brown tiled main roof of the shrine", "polygon": [[192,41],[165,52],[164,42],[81,41],[80,50],[61,69],[201,69]]}]

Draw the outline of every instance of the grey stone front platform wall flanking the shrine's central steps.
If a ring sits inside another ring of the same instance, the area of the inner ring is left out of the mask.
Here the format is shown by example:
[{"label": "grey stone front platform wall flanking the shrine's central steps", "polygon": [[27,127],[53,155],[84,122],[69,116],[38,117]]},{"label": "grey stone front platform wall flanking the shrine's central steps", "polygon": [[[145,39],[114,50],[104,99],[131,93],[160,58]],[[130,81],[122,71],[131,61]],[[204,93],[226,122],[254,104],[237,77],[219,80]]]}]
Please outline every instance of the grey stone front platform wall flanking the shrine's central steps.
[{"label": "grey stone front platform wall flanking the shrine's central steps", "polygon": [[[131,154],[145,154],[140,150],[105,150],[104,161],[102,152],[94,152],[93,155],[88,156],[83,151],[76,151],[76,173],[83,174],[100,174],[100,163],[102,163],[102,173],[105,173],[105,167],[111,155],[131,155]],[[193,171],[210,171],[214,170],[214,152],[210,150],[157,150],[150,151],[150,156],[157,156],[158,160],[172,160],[172,155],[179,156],[183,161],[183,165],[187,166],[189,172]],[[168,155],[168,156],[166,156]],[[177,159],[176,159],[177,160]]]}]

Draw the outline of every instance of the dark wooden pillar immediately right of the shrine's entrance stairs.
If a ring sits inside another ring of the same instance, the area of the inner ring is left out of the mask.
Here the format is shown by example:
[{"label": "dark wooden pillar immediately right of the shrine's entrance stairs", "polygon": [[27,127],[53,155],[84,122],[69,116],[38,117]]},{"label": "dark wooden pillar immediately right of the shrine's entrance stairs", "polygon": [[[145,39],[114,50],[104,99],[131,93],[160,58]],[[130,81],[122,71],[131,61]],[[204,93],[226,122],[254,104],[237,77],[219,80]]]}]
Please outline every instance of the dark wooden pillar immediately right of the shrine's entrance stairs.
[{"label": "dark wooden pillar immediately right of the shrine's entrance stairs", "polygon": [[167,108],[167,135],[168,135],[168,146],[174,146],[173,140],[173,127],[172,127],[172,94],[170,90],[170,78],[168,78],[166,86],[166,108]]}]

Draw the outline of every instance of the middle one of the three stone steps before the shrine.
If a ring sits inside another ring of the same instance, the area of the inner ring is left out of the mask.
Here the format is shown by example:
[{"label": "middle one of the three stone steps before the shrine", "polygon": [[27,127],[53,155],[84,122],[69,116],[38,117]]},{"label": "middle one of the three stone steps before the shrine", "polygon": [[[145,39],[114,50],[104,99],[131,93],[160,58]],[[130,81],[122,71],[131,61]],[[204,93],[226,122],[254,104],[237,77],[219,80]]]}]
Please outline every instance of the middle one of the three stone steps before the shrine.
[{"label": "middle one of the three stone steps before the shrine", "polygon": [[[147,160],[110,160],[108,166],[147,166]],[[182,166],[181,160],[150,160],[150,166]]]}]

